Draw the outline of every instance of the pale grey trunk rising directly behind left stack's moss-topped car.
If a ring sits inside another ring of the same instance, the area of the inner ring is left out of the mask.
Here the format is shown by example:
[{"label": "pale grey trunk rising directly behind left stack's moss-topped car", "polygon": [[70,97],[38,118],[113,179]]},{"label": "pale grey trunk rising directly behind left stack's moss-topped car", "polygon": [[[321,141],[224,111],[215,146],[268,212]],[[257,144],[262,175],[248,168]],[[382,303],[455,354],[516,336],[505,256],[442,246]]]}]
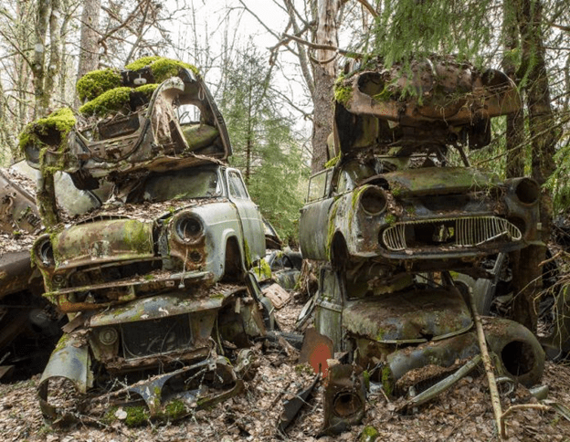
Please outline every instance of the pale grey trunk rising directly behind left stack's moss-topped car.
[{"label": "pale grey trunk rising directly behind left stack's moss-topped car", "polygon": [[[85,0],[83,2],[77,79],[91,70],[99,68],[99,13],[100,0]],[[79,102],[76,102],[76,106],[78,104]]]}]

